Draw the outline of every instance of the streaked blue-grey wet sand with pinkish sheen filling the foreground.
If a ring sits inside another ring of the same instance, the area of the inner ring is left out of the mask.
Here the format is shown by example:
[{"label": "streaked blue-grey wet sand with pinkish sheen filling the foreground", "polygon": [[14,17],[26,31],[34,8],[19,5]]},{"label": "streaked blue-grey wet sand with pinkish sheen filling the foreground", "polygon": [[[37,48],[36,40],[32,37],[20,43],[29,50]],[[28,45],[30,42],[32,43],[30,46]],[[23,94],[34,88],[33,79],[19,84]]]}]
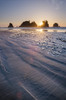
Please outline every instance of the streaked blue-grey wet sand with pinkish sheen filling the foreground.
[{"label": "streaked blue-grey wet sand with pinkish sheen filling the foreground", "polygon": [[66,58],[14,33],[0,31],[0,99],[66,100]]}]

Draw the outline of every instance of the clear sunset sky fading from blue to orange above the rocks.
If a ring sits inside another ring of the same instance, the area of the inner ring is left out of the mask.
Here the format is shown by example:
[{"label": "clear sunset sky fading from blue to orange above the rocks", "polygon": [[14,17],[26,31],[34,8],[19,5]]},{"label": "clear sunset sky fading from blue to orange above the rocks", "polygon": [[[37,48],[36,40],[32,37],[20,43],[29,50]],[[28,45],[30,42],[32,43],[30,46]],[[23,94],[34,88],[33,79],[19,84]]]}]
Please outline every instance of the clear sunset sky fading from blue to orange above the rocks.
[{"label": "clear sunset sky fading from blue to orange above the rocks", "polygon": [[26,20],[38,25],[48,20],[50,26],[57,22],[66,27],[66,0],[0,0],[0,27],[10,22],[20,26]]}]

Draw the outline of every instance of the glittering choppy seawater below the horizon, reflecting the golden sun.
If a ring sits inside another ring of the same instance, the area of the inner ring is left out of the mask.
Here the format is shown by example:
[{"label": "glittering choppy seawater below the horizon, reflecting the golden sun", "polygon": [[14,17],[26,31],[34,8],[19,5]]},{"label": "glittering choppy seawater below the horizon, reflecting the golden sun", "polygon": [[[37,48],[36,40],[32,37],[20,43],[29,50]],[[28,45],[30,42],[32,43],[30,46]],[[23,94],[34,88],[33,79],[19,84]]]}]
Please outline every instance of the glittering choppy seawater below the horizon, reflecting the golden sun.
[{"label": "glittering choppy seawater below the horizon, reflecting the golden sun", "polygon": [[66,28],[18,28],[11,32],[11,38],[37,46],[41,52],[66,57]]}]

